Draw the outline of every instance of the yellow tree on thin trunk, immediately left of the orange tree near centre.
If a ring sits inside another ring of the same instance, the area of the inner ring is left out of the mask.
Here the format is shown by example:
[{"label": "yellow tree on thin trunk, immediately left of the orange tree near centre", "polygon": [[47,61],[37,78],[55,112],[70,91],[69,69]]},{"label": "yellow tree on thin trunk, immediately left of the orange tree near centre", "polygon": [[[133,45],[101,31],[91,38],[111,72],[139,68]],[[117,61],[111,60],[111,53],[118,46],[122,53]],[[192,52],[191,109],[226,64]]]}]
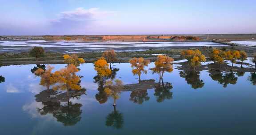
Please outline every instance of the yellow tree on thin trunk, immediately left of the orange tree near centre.
[{"label": "yellow tree on thin trunk, immediately left of the orange tree near centre", "polygon": [[133,75],[139,76],[139,83],[140,83],[140,75],[143,72],[144,74],[147,74],[147,70],[144,69],[145,66],[148,66],[150,63],[149,60],[144,60],[144,58],[132,58],[129,60],[131,67],[132,67],[132,73]]}]

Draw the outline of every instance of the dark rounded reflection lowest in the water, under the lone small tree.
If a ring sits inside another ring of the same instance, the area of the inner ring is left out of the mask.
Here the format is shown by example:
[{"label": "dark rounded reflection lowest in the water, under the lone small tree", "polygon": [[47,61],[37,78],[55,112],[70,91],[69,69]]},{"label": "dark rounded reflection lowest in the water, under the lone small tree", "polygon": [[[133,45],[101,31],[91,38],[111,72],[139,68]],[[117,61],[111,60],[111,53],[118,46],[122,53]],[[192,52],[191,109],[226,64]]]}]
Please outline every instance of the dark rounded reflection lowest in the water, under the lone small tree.
[{"label": "dark rounded reflection lowest in the water, under the lone small tree", "polygon": [[124,126],[124,117],[123,114],[119,111],[116,111],[116,106],[114,106],[114,111],[112,111],[106,117],[106,126],[120,129]]}]

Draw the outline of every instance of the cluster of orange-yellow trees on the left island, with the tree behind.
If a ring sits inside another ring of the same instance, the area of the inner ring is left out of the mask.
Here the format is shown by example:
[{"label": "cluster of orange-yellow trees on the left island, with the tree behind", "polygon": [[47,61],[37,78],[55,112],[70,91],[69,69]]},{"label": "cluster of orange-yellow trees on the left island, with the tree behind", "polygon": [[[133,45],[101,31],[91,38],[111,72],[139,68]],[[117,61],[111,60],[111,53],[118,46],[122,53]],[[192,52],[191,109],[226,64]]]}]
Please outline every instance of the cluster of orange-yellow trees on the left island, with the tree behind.
[{"label": "cluster of orange-yellow trees on the left island, with the tree behind", "polygon": [[[59,71],[52,72],[53,67],[48,66],[46,69],[42,68],[45,66],[40,66],[34,73],[41,77],[40,85],[46,86],[47,90],[50,91],[50,86],[55,85],[53,90],[81,90],[80,86],[80,76],[76,75],[79,71],[77,66],[84,63],[83,58],[78,58],[75,54],[72,56],[64,55],[64,61],[67,66],[60,69]],[[34,68],[37,68],[34,67]],[[33,71],[34,69],[32,69]]]}]

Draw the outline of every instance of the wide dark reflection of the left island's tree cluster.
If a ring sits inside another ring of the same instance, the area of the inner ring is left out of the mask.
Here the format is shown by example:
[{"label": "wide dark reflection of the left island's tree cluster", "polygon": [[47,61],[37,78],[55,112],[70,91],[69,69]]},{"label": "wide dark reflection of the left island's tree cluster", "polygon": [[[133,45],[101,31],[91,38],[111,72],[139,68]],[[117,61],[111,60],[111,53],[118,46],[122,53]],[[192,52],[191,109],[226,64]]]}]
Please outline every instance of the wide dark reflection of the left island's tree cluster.
[{"label": "wide dark reflection of the left island's tree cluster", "polygon": [[40,115],[52,114],[58,122],[64,126],[73,126],[81,120],[81,103],[72,103],[70,99],[80,99],[85,94],[85,89],[80,91],[69,91],[67,96],[65,93],[57,91],[44,90],[40,94],[35,95],[36,101],[43,104],[42,108],[37,108]]}]

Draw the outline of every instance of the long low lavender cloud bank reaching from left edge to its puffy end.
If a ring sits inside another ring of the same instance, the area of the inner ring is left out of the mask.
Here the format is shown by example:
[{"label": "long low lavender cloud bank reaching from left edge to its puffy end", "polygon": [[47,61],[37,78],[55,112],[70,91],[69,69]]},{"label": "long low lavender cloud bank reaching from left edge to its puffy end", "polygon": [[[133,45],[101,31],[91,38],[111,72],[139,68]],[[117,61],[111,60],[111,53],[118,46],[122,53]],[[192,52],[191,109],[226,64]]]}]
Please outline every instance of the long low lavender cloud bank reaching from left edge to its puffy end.
[{"label": "long low lavender cloud bank reaching from left edge to its puffy end", "polygon": [[[108,17],[116,14],[100,8],[76,8],[60,12],[54,19],[36,22],[32,18],[20,21],[0,21],[0,35],[68,35],[88,34],[92,28],[104,23]],[[26,21],[24,21],[26,20]]]}]

